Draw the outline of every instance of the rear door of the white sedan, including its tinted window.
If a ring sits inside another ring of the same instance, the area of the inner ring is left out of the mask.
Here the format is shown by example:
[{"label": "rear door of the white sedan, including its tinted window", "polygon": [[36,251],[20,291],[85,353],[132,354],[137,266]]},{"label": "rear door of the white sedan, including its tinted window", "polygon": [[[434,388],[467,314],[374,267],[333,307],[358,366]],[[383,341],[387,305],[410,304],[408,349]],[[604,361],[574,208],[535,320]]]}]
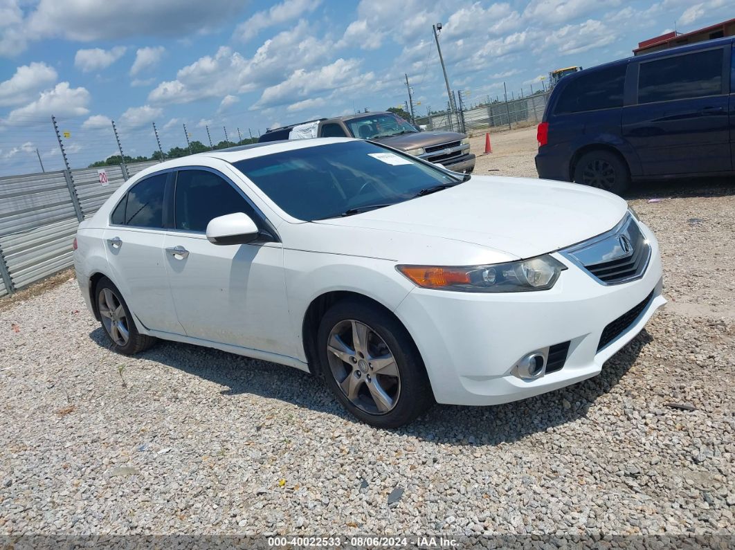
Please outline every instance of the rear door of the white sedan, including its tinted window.
[{"label": "rear door of the white sedan, including its tinted window", "polygon": [[104,230],[112,282],[146,328],[184,332],[168,286],[163,241],[170,173],[137,182],[118,202]]}]

